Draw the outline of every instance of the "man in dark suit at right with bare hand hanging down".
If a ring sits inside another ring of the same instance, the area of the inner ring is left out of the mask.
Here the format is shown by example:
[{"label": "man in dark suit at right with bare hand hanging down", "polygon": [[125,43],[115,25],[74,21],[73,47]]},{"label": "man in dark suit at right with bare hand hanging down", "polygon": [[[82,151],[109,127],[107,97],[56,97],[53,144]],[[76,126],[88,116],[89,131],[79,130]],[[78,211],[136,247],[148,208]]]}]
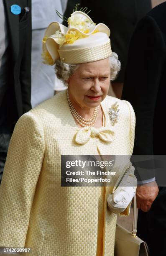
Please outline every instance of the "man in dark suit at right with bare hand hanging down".
[{"label": "man in dark suit at right with bare hand hanging down", "polygon": [[[135,110],[133,154],[166,155],[165,97],[166,2],[140,20],[130,42],[122,99]],[[143,183],[136,192],[138,236],[148,243],[150,256],[165,256],[166,187],[158,188],[151,172]]]}]

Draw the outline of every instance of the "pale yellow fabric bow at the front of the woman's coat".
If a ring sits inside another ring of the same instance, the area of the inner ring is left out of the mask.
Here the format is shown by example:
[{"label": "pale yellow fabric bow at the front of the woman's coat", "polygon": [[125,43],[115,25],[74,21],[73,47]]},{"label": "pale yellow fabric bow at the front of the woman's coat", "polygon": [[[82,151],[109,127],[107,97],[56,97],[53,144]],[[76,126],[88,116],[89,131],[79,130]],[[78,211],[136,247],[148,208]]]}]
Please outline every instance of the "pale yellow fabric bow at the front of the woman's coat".
[{"label": "pale yellow fabric bow at the front of the woman's coat", "polygon": [[76,133],[75,141],[78,144],[85,144],[89,141],[91,137],[94,138],[97,136],[102,141],[112,142],[115,138],[115,133],[114,131],[112,131],[112,129],[107,127],[100,127],[100,128],[84,127],[84,128],[81,128]]}]

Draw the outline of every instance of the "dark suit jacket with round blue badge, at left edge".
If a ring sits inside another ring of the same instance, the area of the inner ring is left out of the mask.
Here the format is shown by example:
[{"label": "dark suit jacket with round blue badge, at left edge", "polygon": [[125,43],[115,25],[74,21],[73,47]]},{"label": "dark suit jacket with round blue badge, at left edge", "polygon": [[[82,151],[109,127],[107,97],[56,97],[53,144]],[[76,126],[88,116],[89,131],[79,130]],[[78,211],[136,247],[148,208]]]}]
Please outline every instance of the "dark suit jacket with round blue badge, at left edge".
[{"label": "dark suit jacket with round blue badge, at left edge", "polygon": [[[10,84],[1,106],[0,121],[18,118],[31,109],[31,0],[3,0],[8,22],[10,44]],[[29,7],[26,20],[20,22],[20,15],[10,12],[10,6],[17,4]]]}]

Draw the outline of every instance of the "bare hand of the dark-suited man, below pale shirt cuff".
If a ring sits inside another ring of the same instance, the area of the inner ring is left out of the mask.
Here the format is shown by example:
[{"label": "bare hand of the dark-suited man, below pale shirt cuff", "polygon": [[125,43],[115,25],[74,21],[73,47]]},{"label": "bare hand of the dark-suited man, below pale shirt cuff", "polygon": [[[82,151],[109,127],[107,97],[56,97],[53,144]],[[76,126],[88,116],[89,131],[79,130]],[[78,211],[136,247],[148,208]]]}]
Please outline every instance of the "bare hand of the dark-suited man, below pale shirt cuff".
[{"label": "bare hand of the dark-suited man, below pale shirt cuff", "polygon": [[136,190],[137,207],[143,212],[148,212],[157,195],[158,185],[156,181],[138,185]]}]

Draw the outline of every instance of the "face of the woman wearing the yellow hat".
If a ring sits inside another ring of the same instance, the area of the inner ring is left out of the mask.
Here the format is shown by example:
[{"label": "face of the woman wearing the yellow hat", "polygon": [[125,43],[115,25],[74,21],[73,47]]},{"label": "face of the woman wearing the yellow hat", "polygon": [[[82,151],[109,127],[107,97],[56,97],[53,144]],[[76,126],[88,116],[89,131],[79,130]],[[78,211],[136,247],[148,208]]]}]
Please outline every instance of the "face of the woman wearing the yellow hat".
[{"label": "face of the woman wearing the yellow hat", "polygon": [[109,58],[79,64],[68,79],[69,96],[80,108],[95,108],[107,95],[110,86]]}]

